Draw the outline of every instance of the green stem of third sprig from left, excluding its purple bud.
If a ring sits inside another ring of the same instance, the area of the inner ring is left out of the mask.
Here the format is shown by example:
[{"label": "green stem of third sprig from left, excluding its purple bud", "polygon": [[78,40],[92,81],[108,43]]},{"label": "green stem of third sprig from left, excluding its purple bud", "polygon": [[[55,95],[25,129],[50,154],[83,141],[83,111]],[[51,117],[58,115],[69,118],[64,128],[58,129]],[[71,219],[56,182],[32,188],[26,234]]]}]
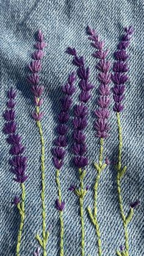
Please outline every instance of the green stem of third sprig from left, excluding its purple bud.
[{"label": "green stem of third sprig from left, excluding its purple bud", "polygon": [[[56,182],[58,187],[58,196],[59,196],[59,202],[62,202],[62,193],[60,189],[60,180],[59,180],[59,173],[60,170],[56,170]],[[63,211],[59,211],[60,216],[60,256],[64,255],[63,251],[63,235],[64,235],[64,225],[63,225]]]}]

